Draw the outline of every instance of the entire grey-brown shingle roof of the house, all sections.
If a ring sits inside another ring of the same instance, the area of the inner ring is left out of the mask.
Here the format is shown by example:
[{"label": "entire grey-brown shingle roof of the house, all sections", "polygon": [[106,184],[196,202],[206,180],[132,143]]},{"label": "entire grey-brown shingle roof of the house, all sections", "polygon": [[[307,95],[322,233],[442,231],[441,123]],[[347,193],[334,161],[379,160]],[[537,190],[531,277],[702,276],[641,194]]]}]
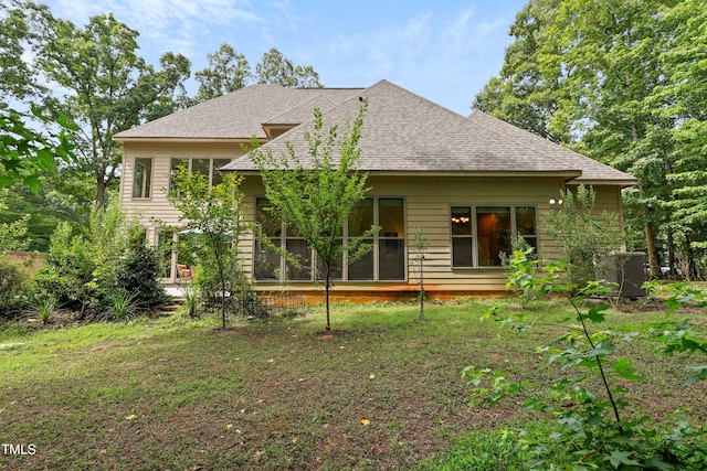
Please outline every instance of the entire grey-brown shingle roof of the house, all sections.
[{"label": "entire grey-brown shingle roof of the house, all sections", "polygon": [[[368,88],[284,88],[258,84],[204,101],[115,136],[129,140],[267,140],[268,125],[298,125],[264,143],[279,154],[292,143],[307,164],[305,133],[313,109],[326,129],[354,120],[368,98],[360,168],[369,172],[517,173],[577,176],[578,182],[627,185],[626,173],[572,152],[481,111],[464,117],[387,81]],[[256,171],[249,156],[225,170]]]}]

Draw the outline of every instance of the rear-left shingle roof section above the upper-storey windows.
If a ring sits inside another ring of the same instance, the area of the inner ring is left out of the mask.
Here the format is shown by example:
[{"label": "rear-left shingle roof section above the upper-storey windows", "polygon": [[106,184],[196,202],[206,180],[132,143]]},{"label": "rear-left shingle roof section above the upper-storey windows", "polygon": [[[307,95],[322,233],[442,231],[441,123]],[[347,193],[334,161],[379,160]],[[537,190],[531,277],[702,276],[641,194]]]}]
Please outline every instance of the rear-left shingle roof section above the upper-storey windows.
[{"label": "rear-left shingle roof section above the upper-storey windows", "polygon": [[340,103],[359,93],[360,88],[284,88],[279,85],[257,84],[177,111],[115,136],[120,142],[128,139],[243,139],[253,136],[266,139],[263,124],[288,110],[288,121],[298,124],[312,117],[303,103],[316,106]]}]

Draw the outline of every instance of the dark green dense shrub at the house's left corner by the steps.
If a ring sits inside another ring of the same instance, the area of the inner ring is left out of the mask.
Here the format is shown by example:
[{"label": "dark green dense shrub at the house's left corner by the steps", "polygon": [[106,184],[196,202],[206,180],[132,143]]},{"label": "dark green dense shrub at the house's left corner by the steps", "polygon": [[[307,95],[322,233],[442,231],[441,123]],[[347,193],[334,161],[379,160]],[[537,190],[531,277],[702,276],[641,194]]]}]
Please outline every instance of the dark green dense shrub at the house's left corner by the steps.
[{"label": "dark green dense shrub at the house's left corner by the steps", "polygon": [[131,250],[119,261],[116,286],[135,296],[137,309],[155,312],[169,302],[169,295],[159,282],[157,251],[151,247]]}]

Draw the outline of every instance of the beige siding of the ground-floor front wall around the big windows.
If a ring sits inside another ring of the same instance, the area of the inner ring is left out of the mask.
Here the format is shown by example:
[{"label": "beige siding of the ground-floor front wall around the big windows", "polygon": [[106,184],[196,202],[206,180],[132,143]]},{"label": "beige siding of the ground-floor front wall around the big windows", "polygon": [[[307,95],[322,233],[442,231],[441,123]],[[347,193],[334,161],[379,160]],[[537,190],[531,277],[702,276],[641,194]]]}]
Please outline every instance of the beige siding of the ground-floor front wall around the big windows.
[{"label": "beige siding of the ground-floor front wall around the big windows", "polygon": [[[450,207],[454,204],[471,205],[530,205],[537,210],[538,243],[545,254],[555,250],[555,244],[542,231],[542,215],[550,208],[550,199],[557,197],[562,181],[557,178],[424,178],[370,175],[368,196],[402,196],[405,199],[405,240],[408,245],[408,279],[392,282],[337,282],[336,290],[380,291],[418,289],[413,264],[415,255],[412,235],[416,226],[429,240],[425,254],[425,288],[429,291],[498,291],[504,289],[505,272],[500,268],[452,269]],[[246,202],[253,206],[256,196],[265,191],[257,176],[249,176],[243,184]],[[251,271],[253,242],[244,240],[242,250]],[[260,290],[281,289],[276,282],[258,282]],[[285,289],[318,289],[309,283],[289,283]]]}]

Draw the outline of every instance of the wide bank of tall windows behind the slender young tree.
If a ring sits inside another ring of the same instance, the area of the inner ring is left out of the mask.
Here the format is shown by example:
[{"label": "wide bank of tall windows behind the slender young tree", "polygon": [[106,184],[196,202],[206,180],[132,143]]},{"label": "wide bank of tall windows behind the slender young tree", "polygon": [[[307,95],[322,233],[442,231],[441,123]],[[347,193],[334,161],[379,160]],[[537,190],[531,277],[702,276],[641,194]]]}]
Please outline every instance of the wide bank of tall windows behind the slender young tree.
[{"label": "wide bank of tall windows behind the slender young tree", "polygon": [[[253,274],[257,280],[312,281],[321,274],[313,274],[316,257],[304,238],[289,229],[286,224],[274,221],[267,211],[267,199],[255,201],[255,221],[273,245],[299,257],[303,268],[286,264],[272,248],[261,240],[255,242]],[[361,236],[372,225],[381,231],[365,243],[373,249],[358,260],[345,266],[344,260],[334,267],[334,278],[346,281],[402,281],[405,279],[405,221],[404,200],[401,197],[367,197],[349,214],[341,240]],[[318,268],[321,271],[321,268]],[[283,277],[282,274],[285,274]]]}]

